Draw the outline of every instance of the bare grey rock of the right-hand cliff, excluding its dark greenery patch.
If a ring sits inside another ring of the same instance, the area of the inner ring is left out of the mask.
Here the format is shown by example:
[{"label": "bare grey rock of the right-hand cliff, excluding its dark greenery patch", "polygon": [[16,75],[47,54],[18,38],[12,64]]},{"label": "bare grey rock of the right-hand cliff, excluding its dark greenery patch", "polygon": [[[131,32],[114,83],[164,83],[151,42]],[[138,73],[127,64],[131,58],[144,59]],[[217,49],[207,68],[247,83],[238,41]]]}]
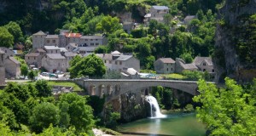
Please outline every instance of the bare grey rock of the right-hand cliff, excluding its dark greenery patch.
[{"label": "bare grey rock of the right-hand cliff, excluding its dark greenery patch", "polygon": [[236,45],[238,40],[242,40],[238,28],[242,29],[241,26],[247,23],[241,18],[252,14],[256,14],[256,0],[226,0],[218,10],[218,20],[221,23],[217,26],[213,55],[216,82],[223,82],[224,77],[231,77],[239,82],[248,82],[256,77],[256,64],[243,61],[241,54],[238,54],[240,48]]}]

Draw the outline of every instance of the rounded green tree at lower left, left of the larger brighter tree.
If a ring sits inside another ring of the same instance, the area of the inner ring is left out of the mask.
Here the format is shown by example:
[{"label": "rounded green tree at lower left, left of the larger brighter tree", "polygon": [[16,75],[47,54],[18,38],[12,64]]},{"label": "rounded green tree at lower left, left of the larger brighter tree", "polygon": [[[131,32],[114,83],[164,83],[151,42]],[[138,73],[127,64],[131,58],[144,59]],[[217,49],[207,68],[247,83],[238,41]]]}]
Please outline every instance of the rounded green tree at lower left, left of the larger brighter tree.
[{"label": "rounded green tree at lower left, left of the larger brighter tree", "polygon": [[56,126],[60,121],[59,108],[51,103],[42,103],[37,105],[29,119],[32,129],[40,133],[43,128],[49,127],[50,124]]}]

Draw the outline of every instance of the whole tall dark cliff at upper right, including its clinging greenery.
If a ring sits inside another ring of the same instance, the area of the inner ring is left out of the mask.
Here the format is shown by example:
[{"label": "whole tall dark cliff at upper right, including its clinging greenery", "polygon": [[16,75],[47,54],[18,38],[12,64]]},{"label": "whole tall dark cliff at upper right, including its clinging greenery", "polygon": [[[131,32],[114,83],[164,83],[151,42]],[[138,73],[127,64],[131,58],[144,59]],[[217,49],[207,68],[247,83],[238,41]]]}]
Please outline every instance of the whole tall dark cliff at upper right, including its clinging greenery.
[{"label": "whole tall dark cliff at upper right, including its clinging greenery", "polygon": [[219,9],[214,61],[220,82],[224,77],[240,82],[256,77],[255,14],[255,0],[226,0]]}]

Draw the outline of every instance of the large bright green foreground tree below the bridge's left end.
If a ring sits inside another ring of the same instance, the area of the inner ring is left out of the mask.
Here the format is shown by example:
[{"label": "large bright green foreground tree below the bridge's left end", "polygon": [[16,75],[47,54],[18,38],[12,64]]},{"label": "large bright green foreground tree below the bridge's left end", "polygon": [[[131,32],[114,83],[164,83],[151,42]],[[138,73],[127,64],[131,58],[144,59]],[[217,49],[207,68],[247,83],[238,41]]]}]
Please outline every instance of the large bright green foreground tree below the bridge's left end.
[{"label": "large bright green foreground tree below the bridge's left end", "polygon": [[69,124],[74,126],[78,133],[90,131],[94,125],[92,109],[86,103],[87,99],[78,94],[70,93],[61,94],[60,96],[59,107],[61,112],[63,110],[67,112],[70,117]]}]

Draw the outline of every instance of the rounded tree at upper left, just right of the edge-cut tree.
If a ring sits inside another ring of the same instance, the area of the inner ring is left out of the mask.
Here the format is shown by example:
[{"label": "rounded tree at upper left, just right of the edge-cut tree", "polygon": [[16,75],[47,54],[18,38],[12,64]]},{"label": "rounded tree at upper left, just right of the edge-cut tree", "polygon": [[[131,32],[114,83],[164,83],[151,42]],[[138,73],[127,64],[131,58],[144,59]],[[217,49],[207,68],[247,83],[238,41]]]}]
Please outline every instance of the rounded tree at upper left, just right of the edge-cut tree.
[{"label": "rounded tree at upper left, just right of the edge-cut tree", "polygon": [[10,21],[7,25],[4,26],[11,35],[14,37],[14,42],[23,42],[23,34],[20,29],[20,25],[16,22]]}]

